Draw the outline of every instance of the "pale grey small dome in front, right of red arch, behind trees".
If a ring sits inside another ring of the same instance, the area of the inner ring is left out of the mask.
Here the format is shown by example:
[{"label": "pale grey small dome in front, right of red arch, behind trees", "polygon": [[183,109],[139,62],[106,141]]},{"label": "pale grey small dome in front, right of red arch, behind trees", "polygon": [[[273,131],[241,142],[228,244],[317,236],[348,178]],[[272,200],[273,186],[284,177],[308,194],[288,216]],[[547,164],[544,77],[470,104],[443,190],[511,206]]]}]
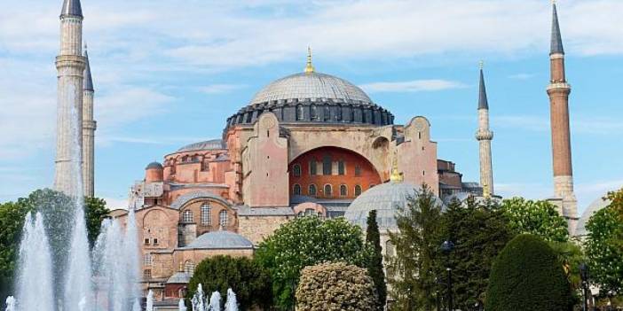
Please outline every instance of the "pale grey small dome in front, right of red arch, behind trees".
[{"label": "pale grey small dome in front, right of red arch, behind trees", "polygon": [[[381,231],[398,229],[396,214],[398,207],[406,207],[408,198],[416,197],[420,187],[413,183],[383,183],[362,193],[348,206],[344,217],[349,222],[367,228],[367,215],[376,210],[376,222]],[[438,204],[442,205],[437,198]]]}]

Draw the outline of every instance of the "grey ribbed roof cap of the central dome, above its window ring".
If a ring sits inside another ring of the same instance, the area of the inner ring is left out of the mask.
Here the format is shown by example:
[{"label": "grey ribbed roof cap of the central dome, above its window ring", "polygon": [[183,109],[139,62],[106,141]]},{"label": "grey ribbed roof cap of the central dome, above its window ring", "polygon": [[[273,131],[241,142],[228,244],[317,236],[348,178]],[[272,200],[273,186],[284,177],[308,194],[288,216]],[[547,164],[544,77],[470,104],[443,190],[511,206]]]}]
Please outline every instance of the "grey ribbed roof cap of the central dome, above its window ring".
[{"label": "grey ribbed roof cap of the central dome, above its window ring", "polygon": [[371,104],[366,93],[351,82],[329,74],[301,73],[288,75],[268,84],[251,99],[250,105],[297,99],[338,99]]}]

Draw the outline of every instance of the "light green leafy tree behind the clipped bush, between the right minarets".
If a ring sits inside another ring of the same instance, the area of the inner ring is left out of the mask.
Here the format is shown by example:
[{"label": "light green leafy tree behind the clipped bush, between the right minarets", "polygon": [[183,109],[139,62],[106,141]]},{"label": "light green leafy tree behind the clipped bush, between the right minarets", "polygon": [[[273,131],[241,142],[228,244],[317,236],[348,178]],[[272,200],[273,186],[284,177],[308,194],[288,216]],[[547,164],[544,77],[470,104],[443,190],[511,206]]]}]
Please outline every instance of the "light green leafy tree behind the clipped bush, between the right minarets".
[{"label": "light green leafy tree behind the clipped bush, between the right minarets", "polygon": [[509,218],[510,227],[518,234],[533,234],[545,241],[566,242],[569,239],[567,222],[548,201],[509,198],[502,201],[501,207]]}]

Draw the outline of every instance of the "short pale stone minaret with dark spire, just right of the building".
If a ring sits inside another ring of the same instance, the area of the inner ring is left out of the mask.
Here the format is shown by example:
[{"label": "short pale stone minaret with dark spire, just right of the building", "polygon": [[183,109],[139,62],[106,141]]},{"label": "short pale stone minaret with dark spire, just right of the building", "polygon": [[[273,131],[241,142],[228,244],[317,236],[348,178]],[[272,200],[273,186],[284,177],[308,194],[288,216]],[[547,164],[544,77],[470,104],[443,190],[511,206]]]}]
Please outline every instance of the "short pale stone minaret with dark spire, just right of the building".
[{"label": "short pale stone minaret with dark spire, just right of the building", "polygon": [[480,88],[478,90],[478,130],[476,139],[480,150],[480,185],[483,196],[493,196],[493,165],[491,162],[491,141],[493,132],[489,130],[489,102],[486,99],[485,74],[480,62]]}]

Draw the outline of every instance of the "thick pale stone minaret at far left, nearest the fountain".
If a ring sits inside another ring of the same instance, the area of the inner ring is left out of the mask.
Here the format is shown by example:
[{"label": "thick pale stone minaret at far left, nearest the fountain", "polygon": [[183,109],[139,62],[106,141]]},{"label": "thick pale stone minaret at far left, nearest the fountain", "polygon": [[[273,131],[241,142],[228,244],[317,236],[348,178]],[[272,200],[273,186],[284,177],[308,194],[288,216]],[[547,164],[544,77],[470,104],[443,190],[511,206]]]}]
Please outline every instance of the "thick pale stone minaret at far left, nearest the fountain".
[{"label": "thick pale stone minaret at far left, nearest the fountain", "polygon": [[82,192],[83,11],[80,0],[65,0],[60,12],[60,52],[56,58],[58,107],[54,188]]}]

